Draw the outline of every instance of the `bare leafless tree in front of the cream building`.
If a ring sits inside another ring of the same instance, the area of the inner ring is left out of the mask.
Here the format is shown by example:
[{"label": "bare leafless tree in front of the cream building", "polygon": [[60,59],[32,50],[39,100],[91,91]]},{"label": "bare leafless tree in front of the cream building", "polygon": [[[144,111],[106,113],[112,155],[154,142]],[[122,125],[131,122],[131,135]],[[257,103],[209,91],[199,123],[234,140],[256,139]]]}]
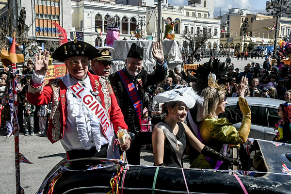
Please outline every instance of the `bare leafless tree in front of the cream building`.
[{"label": "bare leafless tree in front of the cream building", "polygon": [[197,31],[196,33],[192,33],[190,31],[184,30],[182,33],[182,38],[187,40],[189,42],[189,47],[192,50],[191,54],[191,63],[193,64],[194,60],[194,54],[197,50],[201,48],[202,45],[205,44],[205,42],[212,38],[213,34],[211,33],[211,29],[205,29]]}]

